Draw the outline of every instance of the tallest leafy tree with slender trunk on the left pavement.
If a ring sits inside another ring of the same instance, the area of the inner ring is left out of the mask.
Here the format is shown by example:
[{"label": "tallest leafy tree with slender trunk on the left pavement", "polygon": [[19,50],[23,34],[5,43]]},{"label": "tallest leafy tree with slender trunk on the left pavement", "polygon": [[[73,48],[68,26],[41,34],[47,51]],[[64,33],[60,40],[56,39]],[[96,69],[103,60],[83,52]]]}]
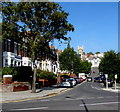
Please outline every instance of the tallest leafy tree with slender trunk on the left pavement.
[{"label": "tallest leafy tree with slender trunk on the left pavement", "polygon": [[[7,5],[5,5],[3,10],[6,11]],[[38,57],[39,59],[45,59],[48,53],[52,53],[49,48],[49,43],[54,39],[59,41],[61,39],[67,40],[65,35],[68,31],[74,31],[74,27],[72,24],[68,23],[68,13],[62,10],[62,7],[60,7],[58,3],[20,2],[16,3],[15,6],[14,8],[9,6],[9,8],[10,10],[13,8],[15,11],[11,16],[13,21],[14,19],[16,20],[16,17],[18,19],[17,24],[15,24],[15,27],[19,26],[18,37],[24,40],[21,44],[23,47],[28,47],[34,65],[32,92],[35,92],[37,73],[35,60],[37,60]],[[7,13],[7,16],[10,17],[10,12]],[[11,20],[11,18],[9,19]],[[12,26],[10,26],[10,28],[11,27]],[[13,33],[14,31],[11,32]],[[18,38],[16,38],[16,40],[17,39]]]}]

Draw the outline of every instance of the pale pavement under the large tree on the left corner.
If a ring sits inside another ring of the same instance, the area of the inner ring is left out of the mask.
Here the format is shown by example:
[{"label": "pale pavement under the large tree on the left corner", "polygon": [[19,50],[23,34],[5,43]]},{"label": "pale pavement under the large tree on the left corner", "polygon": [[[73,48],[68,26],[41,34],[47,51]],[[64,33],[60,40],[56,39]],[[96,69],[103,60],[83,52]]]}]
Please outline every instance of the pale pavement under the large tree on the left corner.
[{"label": "pale pavement under the large tree on the left corner", "polygon": [[46,87],[37,89],[36,93],[31,93],[31,90],[1,93],[2,98],[0,98],[0,103],[41,99],[43,97],[56,95],[65,90],[67,90],[67,88]]}]

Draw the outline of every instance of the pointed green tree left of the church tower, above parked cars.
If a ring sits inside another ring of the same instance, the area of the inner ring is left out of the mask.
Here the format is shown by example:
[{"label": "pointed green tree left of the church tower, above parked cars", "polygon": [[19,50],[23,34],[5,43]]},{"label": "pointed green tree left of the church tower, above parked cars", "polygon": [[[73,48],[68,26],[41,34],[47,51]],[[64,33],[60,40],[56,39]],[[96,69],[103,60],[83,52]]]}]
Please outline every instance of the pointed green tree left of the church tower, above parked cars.
[{"label": "pointed green tree left of the church tower, above parked cars", "polygon": [[78,73],[80,59],[74,49],[69,45],[60,54],[59,60],[61,70],[68,70],[69,72]]}]

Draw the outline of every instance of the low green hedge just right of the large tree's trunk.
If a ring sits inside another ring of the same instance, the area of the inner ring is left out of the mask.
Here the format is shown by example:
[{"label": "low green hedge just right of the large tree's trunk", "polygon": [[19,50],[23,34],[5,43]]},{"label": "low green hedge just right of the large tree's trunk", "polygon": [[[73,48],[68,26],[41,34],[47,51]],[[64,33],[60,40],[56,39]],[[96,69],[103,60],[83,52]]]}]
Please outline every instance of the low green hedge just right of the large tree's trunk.
[{"label": "low green hedge just right of the large tree's trunk", "polygon": [[52,80],[56,79],[56,75],[53,72],[37,69],[37,78]]}]

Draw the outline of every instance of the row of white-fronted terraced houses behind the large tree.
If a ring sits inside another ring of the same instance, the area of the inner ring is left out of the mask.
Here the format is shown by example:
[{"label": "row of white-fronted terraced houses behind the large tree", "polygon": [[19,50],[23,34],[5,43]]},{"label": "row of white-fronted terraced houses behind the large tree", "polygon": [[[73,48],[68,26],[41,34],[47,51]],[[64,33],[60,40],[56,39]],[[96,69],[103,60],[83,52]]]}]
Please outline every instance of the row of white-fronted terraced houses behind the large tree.
[{"label": "row of white-fronted terraced houses behind the large tree", "polygon": [[[57,51],[58,52],[58,51]],[[13,42],[10,39],[3,40],[3,67],[11,67],[11,66],[31,66],[33,68],[33,64],[31,62],[31,58],[28,55],[28,49],[24,47],[21,50],[20,43]],[[54,72],[55,74],[59,69],[59,62],[57,64],[56,61],[52,61],[50,59],[45,59],[42,61],[36,60],[37,68],[45,71]],[[58,65],[58,66],[57,66]]]}]

